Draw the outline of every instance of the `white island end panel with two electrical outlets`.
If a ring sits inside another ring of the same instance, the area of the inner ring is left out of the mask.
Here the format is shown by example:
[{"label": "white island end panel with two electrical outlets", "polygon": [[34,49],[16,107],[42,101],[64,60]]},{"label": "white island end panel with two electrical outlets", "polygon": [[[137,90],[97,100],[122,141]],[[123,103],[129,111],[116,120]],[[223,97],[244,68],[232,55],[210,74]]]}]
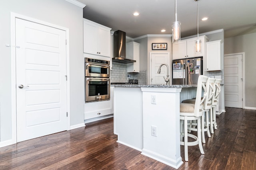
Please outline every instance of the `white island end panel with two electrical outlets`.
[{"label": "white island end panel with two electrical outlets", "polygon": [[[180,156],[181,88],[142,88],[143,149],[142,154],[178,168]],[[152,104],[152,96],[156,104]],[[152,135],[156,127],[156,136]]]}]

